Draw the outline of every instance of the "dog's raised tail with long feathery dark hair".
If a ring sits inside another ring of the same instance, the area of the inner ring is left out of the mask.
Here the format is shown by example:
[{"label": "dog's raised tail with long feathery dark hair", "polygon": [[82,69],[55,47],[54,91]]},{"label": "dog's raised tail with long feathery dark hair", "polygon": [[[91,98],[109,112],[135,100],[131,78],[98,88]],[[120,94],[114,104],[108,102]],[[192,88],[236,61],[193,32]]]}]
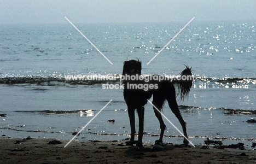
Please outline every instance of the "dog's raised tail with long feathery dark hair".
[{"label": "dog's raised tail with long feathery dark hair", "polygon": [[181,72],[180,77],[174,81],[174,84],[177,85],[178,89],[177,96],[180,96],[181,101],[184,101],[184,98],[189,95],[192,82],[194,80],[191,69],[192,67],[189,68],[188,66],[186,66],[184,71]]}]

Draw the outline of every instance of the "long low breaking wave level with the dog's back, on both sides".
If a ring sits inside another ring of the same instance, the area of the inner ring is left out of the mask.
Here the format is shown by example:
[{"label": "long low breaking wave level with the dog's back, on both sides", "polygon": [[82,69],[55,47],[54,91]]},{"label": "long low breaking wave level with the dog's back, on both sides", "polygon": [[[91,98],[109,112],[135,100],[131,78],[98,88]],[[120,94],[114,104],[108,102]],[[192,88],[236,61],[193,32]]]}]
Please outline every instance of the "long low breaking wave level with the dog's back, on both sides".
[{"label": "long low breaking wave level with the dog's back, on both sides", "polygon": [[[147,74],[144,74],[147,76]],[[78,85],[96,85],[104,83],[118,83],[120,82],[121,74],[106,74],[106,75],[48,75],[48,76],[7,76],[0,77],[0,84],[37,84],[37,85],[57,85],[56,83],[78,84]],[[195,77],[194,86],[200,89],[224,87],[224,88],[254,88],[256,87],[256,78],[214,78],[214,77]]]}]

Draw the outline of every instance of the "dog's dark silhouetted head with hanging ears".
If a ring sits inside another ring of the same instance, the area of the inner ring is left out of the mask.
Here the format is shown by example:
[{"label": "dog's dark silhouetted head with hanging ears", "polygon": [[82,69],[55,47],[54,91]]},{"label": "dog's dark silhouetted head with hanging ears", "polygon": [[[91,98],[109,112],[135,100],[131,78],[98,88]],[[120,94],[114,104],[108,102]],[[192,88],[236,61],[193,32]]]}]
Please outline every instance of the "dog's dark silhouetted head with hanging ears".
[{"label": "dog's dark silhouetted head with hanging ears", "polygon": [[129,60],[124,62],[123,75],[141,75],[141,62],[139,60]]}]

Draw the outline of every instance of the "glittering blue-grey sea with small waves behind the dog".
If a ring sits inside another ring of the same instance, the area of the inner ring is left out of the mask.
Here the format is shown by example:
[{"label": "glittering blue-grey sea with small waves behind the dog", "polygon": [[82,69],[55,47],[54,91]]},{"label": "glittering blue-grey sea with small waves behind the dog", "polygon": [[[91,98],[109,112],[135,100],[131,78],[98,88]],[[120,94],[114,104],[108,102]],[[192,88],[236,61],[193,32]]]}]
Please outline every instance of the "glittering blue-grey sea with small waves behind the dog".
[{"label": "glittering blue-grey sea with small waves behind the dog", "polygon": [[[80,131],[75,140],[130,138],[119,77],[124,61],[135,59],[143,75],[178,75],[184,65],[192,67],[190,94],[177,98],[191,143],[210,139],[251,147],[256,22],[192,21],[173,38],[186,24],[0,25],[0,136],[71,140]],[[181,125],[167,103],[162,111],[168,119],[163,142],[182,144],[174,128],[182,131]],[[148,103],[143,142],[153,144],[159,134]]]}]

